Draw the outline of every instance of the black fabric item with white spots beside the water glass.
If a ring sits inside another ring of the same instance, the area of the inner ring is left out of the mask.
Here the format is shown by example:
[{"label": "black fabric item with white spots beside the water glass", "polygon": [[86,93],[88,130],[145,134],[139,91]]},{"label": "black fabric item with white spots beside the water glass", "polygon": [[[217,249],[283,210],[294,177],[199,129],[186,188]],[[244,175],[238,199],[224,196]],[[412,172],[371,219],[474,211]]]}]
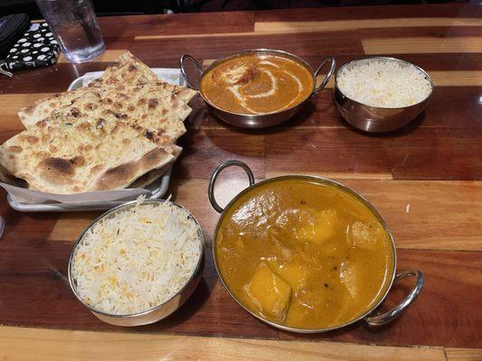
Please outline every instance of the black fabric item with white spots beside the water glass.
[{"label": "black fabric item with white spots beside the water glass", "polygon": [[47,23],[33,23],[5,58],[11,70],[46,67],[59,57],[59,44]]}]

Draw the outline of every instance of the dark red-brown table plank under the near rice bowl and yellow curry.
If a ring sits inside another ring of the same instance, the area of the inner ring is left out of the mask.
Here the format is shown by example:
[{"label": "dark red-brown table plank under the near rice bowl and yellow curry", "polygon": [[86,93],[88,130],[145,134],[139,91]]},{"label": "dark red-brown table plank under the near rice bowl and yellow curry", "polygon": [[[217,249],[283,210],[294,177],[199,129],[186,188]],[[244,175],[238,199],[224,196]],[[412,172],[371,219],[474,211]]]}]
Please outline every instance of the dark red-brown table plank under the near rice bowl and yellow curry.
[{"label": "dark red-brown table plank under the near rice bowl and yellow curry", "polygon": [[[2,322],[31,327],[132,331],[99,321],[74,298],[66,280],[70,252],[71,242],[6,239],[0,244],[0,288],[9,295],[0,308]],[[18,264],[24,266],[19,268]],[[247,338],[307,338],[437,347],[480,345],[482,336],[477,330],[482,314],[474,312],[482,297],[480,253],[401,249],[398,269],[409,268],[423,270],[425,288],[419,299],[392,325],[368,329],[363,322],[358,322],[336,332],[301,335],[267,327],[242,310],[222,288],[211,253],[206,250],[203,281],[192,298],[168,319],[136,330],[222,337],[238,337],[242,330],[241,335]],[[410,284],[395,288],[399,297],[407,292]],[[389,299],[387,308],[393,305],[394,301]]]}]

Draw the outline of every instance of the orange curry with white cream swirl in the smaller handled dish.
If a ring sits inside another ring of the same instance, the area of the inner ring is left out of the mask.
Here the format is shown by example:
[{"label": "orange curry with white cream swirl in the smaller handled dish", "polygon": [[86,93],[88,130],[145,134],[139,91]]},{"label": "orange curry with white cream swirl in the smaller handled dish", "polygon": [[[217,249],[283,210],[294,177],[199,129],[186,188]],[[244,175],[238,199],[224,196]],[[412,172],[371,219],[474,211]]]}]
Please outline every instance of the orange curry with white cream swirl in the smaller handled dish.
[{"label": "orange curry with white cream swirl in the smaller handled dish", "polygon": [[210,103],[237,114],[276,113],[304,101],[313,76],[298,61],[266,54],[224,60],[201,79],[200,91]]}]

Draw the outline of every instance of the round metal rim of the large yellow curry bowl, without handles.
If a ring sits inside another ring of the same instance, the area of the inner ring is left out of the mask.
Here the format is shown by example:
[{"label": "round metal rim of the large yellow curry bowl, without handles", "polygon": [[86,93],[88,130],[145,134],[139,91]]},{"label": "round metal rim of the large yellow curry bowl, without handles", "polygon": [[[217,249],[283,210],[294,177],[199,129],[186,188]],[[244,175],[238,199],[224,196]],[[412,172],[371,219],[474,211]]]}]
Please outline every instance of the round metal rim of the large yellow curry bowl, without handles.
[{"label": "round metal rim of the large yellow curry bowl, without handles", "polygon": [[[333,327],[329,327],[329,328],[324,328],[324,329],[298,329],[298,328],[292,328],[292,327],[288,327],[288,326],[285,326],[285,325],[281,325],[279,323],[276,323],[276,322],[273,322],[273,321],[270,321],[269,319],[264,319],[263,317],[261,317],[260,315],[254,313],[253,311],[251,311],[248,307],[246,307],[244,304],[242,304],[241,301],[238,300],[238,298],[232,293],[232,291],[230,290],[230,288],[228,287],[228,285],[224,282],[223,278],[222,278],[222,274],[219,270],[219,266],[218,266],[218,260],[217,260],[217,253],[216,253],[216,244],[217,244],[217,235],[218,235],[218,231],[219,231],[219,228],[221,227],[221,223],[222,223],[222,219],[225,217],[227,211],[232,207],[232,205],[234,204],[234,202],[238,199],[241,198],[242,195],[250,192],[250,190],[253,190],[263,184],[266,184],[266,183],[269,183],[269,182],[272,182],[272,181],[277,181],[277,180],[287,180],[287,179],[293,179],[293,178],[296,178],[296,179],[305,179],[305,180],[314,180],[314,181],[317,181],[318,183],[321,182],[321,183],[327,183],[331,186],[335,186],[341,190],[345,190],[346,192],[348,192],[349,194],[352,194],[354,195],[355,198],[357,199],[360,199],[364,205],[369,208],[372,212],[373,212],[373,215],[380,221],[380,223],[382,224],[383,226],[383,229],[387,232],[389,238],[390,238],[390,243],[392,245],[392,261],[393,261],[393,264],[392,264],[392,275],[391,275],[391,279],[390,279],[390,282],[388,283],[388,286],[385,290],[385,292],[383,292],[383,295],[382,296],[379,296],[379,300],[373,304],[373,306],[369,309],[369,310],[366,310],[362,315],[356,317],[355,319],[351,319],[347,322],[345,322],[344,324],[341,324],[341,325],[336,325],[336,326],[333,326]],[[261,321],[269,324],[270,326],[273,326],[277,329],[283,329],[285,331],[291,331],[291,332],[298,332],[298,333],[320,333],[320,332],[327,332],[327,331],[332,331],[332,330],[335,330],[335,329],[342,329],[346,326],[349,326],[351,324],[354,324],[355,322],[358,322],[359,320],[361,319],[364,319],[365,317],[367,317],[368,315],[370,315],[370,313],[373,312],[373,310],[376,310],[376,308],[378,306],[380,306],[382,304],[382,302],[385,300],[385,298],[387,297],[388,295],[388,292],[390,292],[390,290],[392,289],[392,285],[393,285],[393,282],[395,280],[395,275],[396,275],[396,267],[397,267],[397,252],[396,252],[396,247],[395,247],[395,241],[393,239],[393,235],[392,235],[392,231],[390,230],[390,228],[388,227],[387,223],[385,222],[385,220],[383,219],[382,215],[378,212],[378,210],[376,208],[373,207],[372,203],[370,203],[368,201],[368,199],[365,199],[364,196],[362,196],[360,193],[358,193],[357,191],[355,190],[352,190],[351,188],[349,187],[346,187],[344,184],[342,183],[339,183],[337,182],[336,180],[330,180],[330,179],[327,179],[327,178],[324,178],[324,177],[319,177],[319,176],[314,176],[314,175],[302,175],[302,174],[292,174],[292,175],[284,175],[284,176],[279,176],[279,177],[274,177],[274,178],[269,178],[268,180],[261,180],[257,183],[254,183],[253,185],[251,185],[250,187],[244,189],[244,190],[241,190],[240,193],[238,193],[227,205],[226,207],[224,207],[224,209],[222,210],[222,214],[220,216],[220,218],[218,219],[218,223],[216,225],[216,229],[214,231],[214,236],[213,236],[213,245],[212,245],[212,249],[213,249],[213,260],[214,260],[214,267],[216,268],[216,272],[218,273],[219,275],[219,278],[222,282],[222,285],[224,286],[224,288],[226,289],[226,291],[232,296],[232,298],[234,299],[234,301],[238,302],[239,305],[241,305],[241,307],[244,309],[244,310],[247,310],[248,312],[250,312],[250,314],[254,317],[256,317],[257,319],[260,319]]]}]

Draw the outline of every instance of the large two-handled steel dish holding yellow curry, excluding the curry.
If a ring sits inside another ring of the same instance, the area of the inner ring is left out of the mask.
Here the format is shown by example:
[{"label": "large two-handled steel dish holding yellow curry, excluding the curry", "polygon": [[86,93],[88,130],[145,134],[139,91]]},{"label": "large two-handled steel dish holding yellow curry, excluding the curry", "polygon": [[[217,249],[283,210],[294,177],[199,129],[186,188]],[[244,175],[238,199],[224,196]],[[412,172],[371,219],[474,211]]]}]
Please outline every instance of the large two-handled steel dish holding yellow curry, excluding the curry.
[{"label": "large two-handled steel dish holding yellow curry, excluding the curry", "polygon": [[[222,208],[216,202],[216,199],[214,198],[214,186],[215,186],[216,180],[217,180],[219,174],[221,173],[221,171],[223,169],[225,169],[227,167],[231,167],[231,166],[238,166],[238,167],[241,167],[244,171],[246,171],[246,173],[248,174],[249,180],[250,180],[250,187],[245,189],[245,190],[242,190],[241,193],[239,193],[236,197],[234,197],[234,199],[232,199],[225,208]],[[218,231],[219,231],[219,227],[222,223],[222,218],[225,217],[226,213],[228,212],[228,209],[231,208],[232,204],[237,199],[239,199],[242,195],[246,194],[247,192],[250,192],[250,190],[253,190],[253,189],[257,188],[262,184],[272,182],[273,180],[292,179],[292,178],[307,179],[307,180],[315,181],[317,183],[330,184],[332,186],[336,186],[337,188],[339,188],[341,190],[345,190],[346,192],[349,192],[349,193],[353,194],[354,197],[361,200],[367,208],[370,208],[372,210],[373,214],[376,216],[376,218],[379,219],[379,221],[383,225],[385,231],[390,236],[390,240],[391,240],[391,243],[392,243],[392,250],[393,250],[393,268],[392,268],[392,280],[390,282],[389,287],[387,288],[386,292],[384,292],[384,294],[380,296],[379,301],[376,302],[376,304],[374,304],[371,309],[367,310],[366,312],[364,312],[363,315],[357,317],[356,319],[351,319],[350,321],[346,322],[345,324],[338,325],[336,327],[331,327],[331,328],[326,328],[326,329],[295,329],[295,328],[290,328],[290,327],[281,325],[279,323],[270,321],[269,319],[264,319],[264,318],[260,317],[259,315],[250,311],[247,307],[245,307],[241,303],[241,301],[239,301],[234,296],[234,294],[229,289],[228,285],[222,279],[222,274],[219,271],[217,256],[216,256],[217,234],[218,234]],[[392,319],[395,319],[396,317],[400,316],[402,314],[402,312],[404,310],[406,310],[407,307],[409,307],[413,301],[415,301],[415,299],[417,298],[417,296],[419,295],[419,293],[421,292],[421,290],[423,288],[423,274],[421,273],[421,271],[419,271],[419,270],[407,270],[407,271],[401,271],[401,272],[398,272],[398,273],[396,272],[397,256],[396,256],[396,248],[395,248],[395,244],[394,244],[394,241],[393,241],[392,232],[390,231],[390,228],[387,226],[387,224],[383,220],[382,216],[378,213],[376,208],[374,208],[372,206],[372,204],[368,200],[364,199],[364,197],[362,197],[360,194],[358,194],[354,190],[351,190],[350,188],[344,186],[341,183],[338,183],[334,180],[328,180],[326,178],[321,178],[321,177],[314,177],[314,176],[307,176],[307,175],[288,175],[288,176],[271,178],[269,180],[262,180],[262,181],[260,181],[256,184],[254,184],[254,176],[252,174],[252,171],[250,170],[250,167],[248,167],[248,165],[246,165],[243,162],[239,162],[239,161],[228,161],[228,162],[223,162],[213,172],[213,175],[211,176],[211,180],[209,182],[208,195],[209,195],[209,200],[210,200],[213,208],[215,210],[217,210],[219,213],[221,213],[221,217],[218,220],[218,224],[216,226],[216,229],[215,229],[215,232],[214,232],[214,237],[213,237],[213,258],[214,258],[214,265],[215,265],[216,271],[217,271],[217,273],[218,273],[218,275],[221,279],[222,285],[224,286],[226,291],[229,292],[232,295],[232,298],[235,301],[237,301],[244,310],[247,310],[248,312],[250,312],[251,315],[253,315],[257,319],[260,319],[261,321],[266,322],[266,323],[268,323],[269,325],[271,325],[275,328],[284,329],[284,330],[288,330],[288,331],[292,331],[292,332],[299,332],[299,333],[317,333],[317,332],[330,331],[330,330],[333,330],[333,329],[341,329],[341,328],[344,328],[345,326],[351,325],[352,323],[357,322],[361,319],[364,319],[365,322],[367,322],[370,326],[383,325],[385,323],[388,323],[388,322],[392,321]],[[396,305],[392,310],[389,310],[389,311],[387,311],[387,312],[385,312],[381,315],[373,315],[373,311],[376,310],[376,308],[383,303],[386,296],[388,295],[388,292],[390,292],[390,290],[392,289],[392,284],[394,282],[402,281],[404,278],[409,277],[409,276],[415,276],[416,277],[416,282],[415,282],[415,285],[413,286],[413,288],[411,289],[411,292],[409,292],[408,295],[398,305]]]}]

